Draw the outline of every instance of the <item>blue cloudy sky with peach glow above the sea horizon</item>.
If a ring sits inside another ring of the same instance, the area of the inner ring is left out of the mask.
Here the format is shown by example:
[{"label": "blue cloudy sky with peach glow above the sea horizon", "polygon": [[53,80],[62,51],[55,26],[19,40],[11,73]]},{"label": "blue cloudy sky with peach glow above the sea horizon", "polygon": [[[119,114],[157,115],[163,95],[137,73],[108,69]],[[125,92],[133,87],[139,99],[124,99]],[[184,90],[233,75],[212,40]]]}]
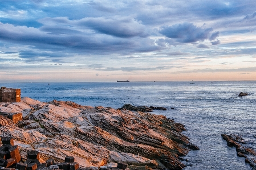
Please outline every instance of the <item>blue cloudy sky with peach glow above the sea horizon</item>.
[{"label": "blue cloudy sky with peach glow above the sea horizon", "polygon": [[0,4],[0,82],[256,80],[255,0]]}]

